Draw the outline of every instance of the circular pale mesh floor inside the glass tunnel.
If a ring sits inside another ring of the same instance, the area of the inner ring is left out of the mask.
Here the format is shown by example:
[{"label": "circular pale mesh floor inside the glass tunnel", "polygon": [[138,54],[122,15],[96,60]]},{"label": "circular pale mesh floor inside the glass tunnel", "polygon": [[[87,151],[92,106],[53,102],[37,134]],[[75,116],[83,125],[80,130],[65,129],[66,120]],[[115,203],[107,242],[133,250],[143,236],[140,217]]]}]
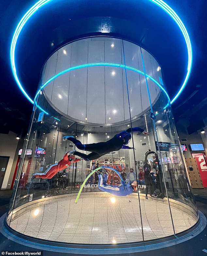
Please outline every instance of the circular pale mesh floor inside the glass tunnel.
[{"label": "circular pale mesh floor inside the glass tunnel", "polygon": [[[137,194],[117,197],[102,192],[85,193],[77,204],[74,203],[75,198],[76,195],[70,194],[29,207],[23,205],[19,214],[12,215],[10,227],[36,238],[79,244],[143,241],[142,226],[144,240],[174,234],[166,200],[146,200],[140,196],[140,217]],[[198,220],[192,211],[181,207],[181,204],[178,204],[180,209],[171,205],[176,233],[189,229]]]}]

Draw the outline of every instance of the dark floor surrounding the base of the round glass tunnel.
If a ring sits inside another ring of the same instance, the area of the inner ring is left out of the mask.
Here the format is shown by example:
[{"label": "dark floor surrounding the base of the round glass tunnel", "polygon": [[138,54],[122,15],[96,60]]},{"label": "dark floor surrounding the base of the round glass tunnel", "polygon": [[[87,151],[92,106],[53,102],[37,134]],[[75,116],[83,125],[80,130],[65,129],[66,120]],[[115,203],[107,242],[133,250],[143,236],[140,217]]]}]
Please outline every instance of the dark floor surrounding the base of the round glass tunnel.
[{"label": "dark floor surrounding the base of the round glass tunnel", "polygon": [[[205,190],[195,190],[194,194],[197,194],[199,198],[203,198],[203,202],[197,201],[198,209],[205,215],[207,218],[207,202],[206,198],[206,191]],[[8,203],[11,196],[10,190],[0,190],[0,216],[2,216],[8,209]],[[156,220],[155,220],[156,221]],[[203,250],[206,250],[203,251]],[[0,255],[1,251],[39,251],[38,249],[33,249],[31,247],[26,247],[15,243],[0,233]],[[82,255],[82,254],[71,254],[71,253],[60,253],[60,252],[52,252],[52,251],[43,251],[43,256],[66,256],[66,255]],[[84,254],[86,255],[86,254]],[[91,255],[91,254],[88,254]],[[145,252],[138,252],[138,253],[128,253],[128,254],[119,254],[122,256],[207,256],[207,227],[197,236],[193,237],[192,239],[171,246],[151,251]]]}]

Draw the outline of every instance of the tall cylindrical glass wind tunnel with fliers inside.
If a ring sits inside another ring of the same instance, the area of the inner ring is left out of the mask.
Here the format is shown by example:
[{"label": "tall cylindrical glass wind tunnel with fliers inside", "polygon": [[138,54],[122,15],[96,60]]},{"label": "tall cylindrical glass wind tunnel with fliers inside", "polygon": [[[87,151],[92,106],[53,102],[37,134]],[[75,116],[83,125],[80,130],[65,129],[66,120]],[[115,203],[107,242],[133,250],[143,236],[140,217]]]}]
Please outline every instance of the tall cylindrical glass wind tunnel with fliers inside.
[{"label": "tall cylindrical glass wind tunnel with fliers inside", "polygon": [[[66,152],[90,153],[63,136],[82,144],[106,142],[130,127],[140,127],[149,136],[133,132],[128,144],[133,149],[72,163],[50,179],[33,178]],[[157,175],[148,199],[139,175],[146,163]],[[115,189],[122,186],[121,173],[130,182],[133,168],[138,189],[128,196],[103,192],[97,172],[84,184],[98,166],[107,174],[106,184]],[[137,44],[106,36],[75,40],[55,51],[40,75],[8,210],[9,227],[45,243],[130,247],[179,236],[197,221],[157,60]]]}]

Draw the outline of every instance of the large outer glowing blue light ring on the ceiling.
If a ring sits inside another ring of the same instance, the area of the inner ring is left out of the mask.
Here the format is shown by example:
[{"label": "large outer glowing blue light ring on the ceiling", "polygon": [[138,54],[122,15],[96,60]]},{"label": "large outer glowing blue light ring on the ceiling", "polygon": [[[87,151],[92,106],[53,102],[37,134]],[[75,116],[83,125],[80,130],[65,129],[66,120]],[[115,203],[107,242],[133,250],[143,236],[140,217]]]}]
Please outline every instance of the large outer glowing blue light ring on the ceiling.
[{"label": "large outer glowing blue light ring on the ceiling", "polygon": [[[11,61],[11,68],[12,68],[12,72],[14,74],[14,78],[19,86],[19,88],[21,89],[21,91],[23,92],[23,94],[25,95],[25,97],[32,103],[34,104],[34,101],[28,96],[28,94],[26,93],[26,91],[24,90],[23,86],[21,85],[17,73],[16,73],[16,66],[15,66],[15,48],[16,48],[16,42],[17,39],[19,37],[19,34],[22,30],[22,28],[24,27],[24,24],[28,21],[28,19],[36,12],[38,11],[41,7],[43,7],[44,5],[46,5],[47,3],[51,2],[52,0],[40,0],[38,1],[35,5],[33,5],[23,16],[23,18],[21,19],[21,21],[19,22],[15,33],[13,35],[12,38],[12,42],[11,42],[11,49],[10,49],[10,61]],[[167,12],[167,14],[173,18],[173,20],[177,23],[177,25],[179,26],[179,28],[181,29],[186,45],[187,45],[187,51],[188,51],[188,65],[187,65],[187,74],[186,77],[184,79],[184,82],[180,88],[180,90],[178,91],[178,93],[175,95],[175,97],[172,99],[171,104],[177,99],[177,97],[180,95],[181,91],[183,90],[184,86],[187,83],[187,80],[189,78],[190,75],[190,71],[191,71],[191,67],[192,67],[192,47],[191,47],[191,43],[190,43],[190,39],[189,39],[189,35],[187,33],[187,30],[183,24],[183,22],[181,21],[181,19],[178,17],[178,15],[174,12],[174,10],[172,8],[170,8],[165,2],[163,2],[162,0],[149,0],[152,3],[156,4],[157,6],[159,6],[160,8],[162,8],[165,12]]]}]

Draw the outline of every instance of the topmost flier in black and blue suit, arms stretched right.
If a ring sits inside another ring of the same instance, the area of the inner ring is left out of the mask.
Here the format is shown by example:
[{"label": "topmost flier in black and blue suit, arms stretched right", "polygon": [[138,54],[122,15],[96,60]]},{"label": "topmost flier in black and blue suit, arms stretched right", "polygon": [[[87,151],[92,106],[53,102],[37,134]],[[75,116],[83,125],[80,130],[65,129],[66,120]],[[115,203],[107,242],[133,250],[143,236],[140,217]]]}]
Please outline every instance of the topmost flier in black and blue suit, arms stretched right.
[{"label": "topmost flier in black and blue suit, arms stretched right", "polygon": [[133,149],[132,147],[126,146],[129,143],[129,140],[132,138],[130,133],[132,132],[141,132],[145,135],[149,135],[147,131],[142,128],[134,127],[129,128],[125,131],[116,134],[112,139],[106,142],[98,142],[92,144],[82,144],[79,140],[75,139],[73,136],[64,136],[63,140],[72,141],[75,146],[80,150],[85,150],[91,152],[90,154],[84,154],[81,152],[73,151],[74,155],[78,155],[83,158],[85,161],[90,161],[93,159],[97,159],[108,152],[118,151],[120,149]]}]

